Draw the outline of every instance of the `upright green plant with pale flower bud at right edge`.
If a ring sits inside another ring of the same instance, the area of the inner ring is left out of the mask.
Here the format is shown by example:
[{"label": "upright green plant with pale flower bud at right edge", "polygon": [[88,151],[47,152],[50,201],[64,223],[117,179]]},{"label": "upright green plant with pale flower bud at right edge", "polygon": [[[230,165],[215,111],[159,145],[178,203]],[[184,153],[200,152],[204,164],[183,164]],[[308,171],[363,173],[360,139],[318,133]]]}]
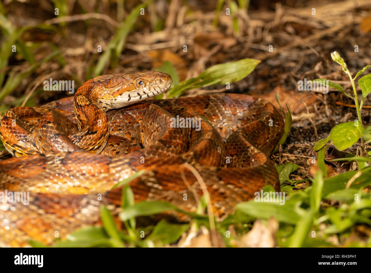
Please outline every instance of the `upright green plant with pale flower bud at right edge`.
[{"label": "upright green plant with pale flower bud at right edge", "polygon": [[344,91],[341,85],[329,81],[328,79],[315,79],[312,82],[319,82],[322,85],[327,85],[329,87],[335,88],[336,90],[347,95],[349,98],[352,98],[354,100],[358,119],[336,125],[334,128],[331,129],[328,137],[319,140],[315,144],[314,150],[318,151],[322,149],[326,145],[326,143],[328,143],[328,141],[331,140],[331,142],[335,145],[336,149],[342,151],[348,149],[359,139],[361,139],[361,146],[358,147],[357,149],[357,155],[360,155],[362,157],[369,157],[368,153],[366,152],[366,143],[371,141],[370,137],[371,126],[368,126],[366,128],[363,127],[361,113],[364,100],[367,97],[367,95],[371,92],[371,74],[365,75],[364,77],[358,80],[358,85],[362,90],[362,99],[360,104],[358,101],[357,90],[355,88],[354,82],[358,78],[358,76],[361,75],[367,68],[370,68],[371,65],[365,66],[364,68],[357,72],[355,77],[352,77],[352,74],[349,71],[347,64],[344,62],[344,59],[341,58],[338,52],[336,51],[332,52],[331,58],[339,65],[341,65],[342,70],[349,76],[354,92],[354,97],[347,94],[347,92]]}]

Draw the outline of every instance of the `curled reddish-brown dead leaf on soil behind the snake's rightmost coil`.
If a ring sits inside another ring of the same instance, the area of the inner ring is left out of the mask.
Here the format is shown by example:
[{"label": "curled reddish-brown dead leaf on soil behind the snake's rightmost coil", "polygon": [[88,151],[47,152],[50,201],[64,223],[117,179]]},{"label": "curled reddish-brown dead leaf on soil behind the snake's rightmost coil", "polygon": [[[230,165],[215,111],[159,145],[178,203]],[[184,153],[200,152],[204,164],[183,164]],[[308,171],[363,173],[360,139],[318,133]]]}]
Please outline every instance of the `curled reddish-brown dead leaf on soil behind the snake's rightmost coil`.
[{"label": "curled reddish-brown dead leaf on soil behind the snake's rightmost coil", "polygon": [[285,109],[285,105],[289,107],[292,114],[298,114],[301,111],[305,110],[305,104],[310,105],[314,103],[318,98],[314,94],[308,94],[308,93],[297,93],[294,91],[286,91],[284,88],[278,86],[274,88],[271,92],[267,94],[256,94],[252,93],[251,95],[262,98],[263,100],[267,100],[273,105],[275,105],[276,108],[279,109],[279,105],[276,101],[276,92],[278,92],[278,95],[280,97],[280,104]]}]

